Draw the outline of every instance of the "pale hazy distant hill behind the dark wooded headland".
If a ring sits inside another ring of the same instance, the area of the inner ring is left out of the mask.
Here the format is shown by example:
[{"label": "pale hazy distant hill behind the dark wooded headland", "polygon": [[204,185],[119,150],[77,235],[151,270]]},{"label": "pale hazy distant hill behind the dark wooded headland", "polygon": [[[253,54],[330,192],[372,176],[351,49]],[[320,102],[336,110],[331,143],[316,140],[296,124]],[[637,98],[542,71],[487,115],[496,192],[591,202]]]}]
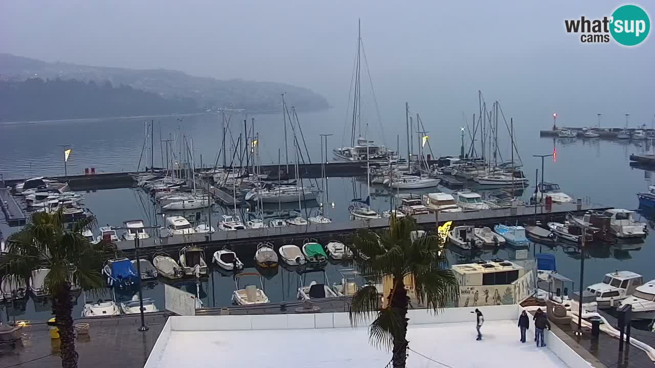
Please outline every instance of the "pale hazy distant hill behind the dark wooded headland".
[{"label": "pale hazy distant hill behind the dark wooded headland", "polygon": [[[47,63],[41,60],[0,54],[0,80],[25,81],[29,78],[94,81],[103,85],[109,81],[114,87],[130,86],[136,90],[158,94],[166,100],[191,98],[197,111],[219,107],[245,108],[254,112],[280,111],[280,94],[299,111],[314,111],[329,107],[327,100],[308,88],[284,83],[218,80],[194,77],[181,71],[166,69],[125,69],[96,67],[69,63]],[[35,101],[32,101],[33,103]],[[33,104],[38,108],[38,104]],[[178,111],[181,112],[181,111]]]}]

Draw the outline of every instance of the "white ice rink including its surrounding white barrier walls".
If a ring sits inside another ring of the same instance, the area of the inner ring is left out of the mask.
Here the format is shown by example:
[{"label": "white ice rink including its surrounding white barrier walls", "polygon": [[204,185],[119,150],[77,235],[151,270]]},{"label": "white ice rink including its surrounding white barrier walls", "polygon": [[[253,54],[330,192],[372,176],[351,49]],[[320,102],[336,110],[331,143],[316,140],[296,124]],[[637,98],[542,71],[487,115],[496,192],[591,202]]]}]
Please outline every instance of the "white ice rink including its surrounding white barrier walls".
[{"label": "white ice rink including its surrounding white barrier walls", "polygon": [[[446,308],[438,315],[409,310],[407,367],[589,368],[546,331],[544,348],[521,344],[518,305],[479,307],[483,339],[476,341],[475,308]],[[369,322],[353,328],[347,313],[168,318],[145,368],[371,367],[384,368],[391,353],[369,343]],[[531,323],[529,335],[534,333]]]}]

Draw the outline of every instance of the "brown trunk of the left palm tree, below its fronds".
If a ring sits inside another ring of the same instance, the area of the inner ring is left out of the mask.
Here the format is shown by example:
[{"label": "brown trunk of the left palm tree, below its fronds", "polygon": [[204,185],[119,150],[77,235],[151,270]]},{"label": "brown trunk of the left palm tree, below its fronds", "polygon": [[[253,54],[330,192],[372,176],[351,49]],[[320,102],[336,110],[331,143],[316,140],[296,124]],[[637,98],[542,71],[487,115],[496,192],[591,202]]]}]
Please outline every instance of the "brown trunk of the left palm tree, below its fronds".
[{"label": "brown trunk of the left palm tree, below its fronds", "polygon": [[63,368],[77,368],[77,352],[75,352],[75,334],[73,333],[73,301],[71,300],[71,285],[57,293],[52,293],[52,313],[57,320],[61,344]]}]

